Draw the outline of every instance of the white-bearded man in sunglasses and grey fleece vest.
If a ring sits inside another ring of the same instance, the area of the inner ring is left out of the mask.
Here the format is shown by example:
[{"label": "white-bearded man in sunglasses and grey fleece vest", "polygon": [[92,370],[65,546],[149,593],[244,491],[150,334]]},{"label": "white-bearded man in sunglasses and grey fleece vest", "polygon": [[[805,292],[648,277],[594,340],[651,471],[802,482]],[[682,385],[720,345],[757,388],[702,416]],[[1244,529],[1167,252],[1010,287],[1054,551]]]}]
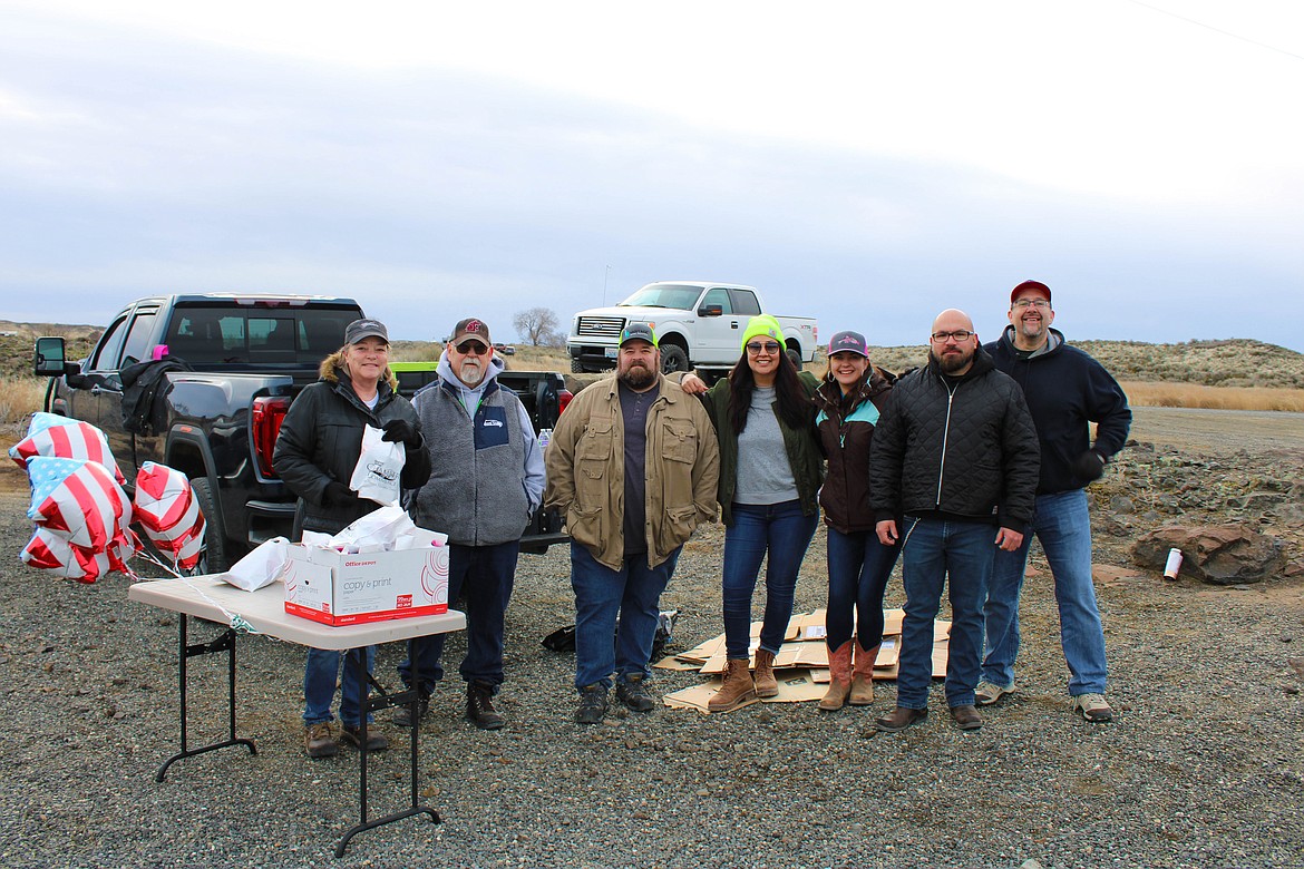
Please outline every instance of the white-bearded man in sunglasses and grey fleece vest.
[{"label": "white-bearded man in sunglasses and grey fleece vest", "polygon": [[[493,697],[503,683],[503,614],[516,575],[520,535],[544,494],[544,456],[520,399],[498,386],[503,363],[494,356],[489,327],[468,317],[452,328],[439,360],[439,379],[412,399],[430,461],[437,468],[412,499],[412,521],[449,535],[449,603],[460,597],[467,612],[467,719],[499,730]],[[443,638],[413,640],[399,676],[413,672],[425,715],[434,683],[443,679]],[[413,667],[413,662],[416,667]],[[411,726],[407,706],[394,718]]]}]

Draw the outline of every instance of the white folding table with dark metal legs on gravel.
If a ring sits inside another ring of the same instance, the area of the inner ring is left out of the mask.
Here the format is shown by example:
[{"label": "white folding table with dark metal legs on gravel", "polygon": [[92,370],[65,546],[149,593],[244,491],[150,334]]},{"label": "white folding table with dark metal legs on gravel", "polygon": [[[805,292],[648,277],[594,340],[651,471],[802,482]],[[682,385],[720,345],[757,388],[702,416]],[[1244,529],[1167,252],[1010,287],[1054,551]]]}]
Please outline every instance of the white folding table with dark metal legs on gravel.
[{"label": "white folding table with dark metal legs on gravel", "polygon": [[[248,623],[253,632],[276,640],[297,642],[314,649],[333,649],[347,651],[364,646],[379,645],[385,642],[398,642],[424,637],[432,633],[449,633],[462,631],[467,625],[467,619],[456,610],[449,610],[442,615],[415,616],[411,619],[389,619],[369,624],[353,624],[346,627],[333,627],[312,621],[286,612],[284,589],[279,582],[258,589],[257,591],[244,591],[232,585],[227,585],[213,576],[194,576],[181,580],[156,580],[137,582],[128,589],[126,598],[140,603],[171,610],[180,614],[179,645],[177,645],[177,681],[180,685],[180,722],[181,722],[181,750],[170,757],[155,774],[155,780],[162,782],[168,767],[184,757],[193,757],[205,752],[232,745],[244,745],[250,754],[257,754],[258,749],[253,740],[236,737],[236,637],[246,632],[244,625],[239,629],[227,627],[222,636],[201,644],[189,644],[188,621],[198,618],[216,621],[220,625],[231,624],[231,614],[239,615]],[[190,748],[186,740],[186,661],[194,655],[227,653],[227,674],[230,681],[228,693],[228,728],[227,739]],[[346,654],[346,664],[359,668],[360,683],[374,680],[366,674],[363,655]],[[344,856],[344,848],[349,839],[361,833],[385,823],[391,823],[416,814],[428,814],[433,823],[439,822],[439,814],[417,800],[417,732],[420,727],[412,727],[412,805],[402,812],[387,814],[374,821],[366,818],[366,718],[368,713],[390,706],[409,706],[412,720],[417,722],[417,701],[420,694],[415,685],[419,680],[413,674],[413,688],[403,692],[385,693],[381,691],[363,701],[361,717],[361,760],[359,762],[359,812],[361,819],[351,827],[335,848],[335,856]],[[379,688],[379,685],[377,685]]]}]

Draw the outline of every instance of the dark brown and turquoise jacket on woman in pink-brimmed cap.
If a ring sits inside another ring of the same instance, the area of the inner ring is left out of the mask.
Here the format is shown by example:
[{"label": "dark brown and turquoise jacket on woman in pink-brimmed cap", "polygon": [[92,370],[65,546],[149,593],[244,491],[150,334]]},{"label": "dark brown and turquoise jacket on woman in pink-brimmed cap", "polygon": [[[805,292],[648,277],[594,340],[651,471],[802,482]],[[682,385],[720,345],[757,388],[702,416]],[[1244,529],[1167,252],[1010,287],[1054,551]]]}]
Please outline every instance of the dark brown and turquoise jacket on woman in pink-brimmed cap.
[{"label": "dark brown and turquoise jacket on woman in pink-brimmed cap", "polygon": [[836,380],[824,380],[815,391],[815,427],[828,460],[819,506],[824,522],[844,534],[874,530],[870,447],[875,422],[887,406],[895,380],[895,374],[876,367],[854,395],[844,397]]}]

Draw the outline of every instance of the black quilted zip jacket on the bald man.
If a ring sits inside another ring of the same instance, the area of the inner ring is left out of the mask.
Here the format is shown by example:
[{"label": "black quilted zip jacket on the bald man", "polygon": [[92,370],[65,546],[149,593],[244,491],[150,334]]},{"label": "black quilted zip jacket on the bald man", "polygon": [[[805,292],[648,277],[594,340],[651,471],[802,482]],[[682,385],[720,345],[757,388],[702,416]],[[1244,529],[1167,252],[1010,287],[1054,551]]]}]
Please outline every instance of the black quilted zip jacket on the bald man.
[{"label": "black quilted zip jacket on the bald man", "polygon": [[1024,391],[982,348],[948,383],[936,362],[896,382],[870,452],[870,507],[983,521],[1024,533],[1041,451]]}]

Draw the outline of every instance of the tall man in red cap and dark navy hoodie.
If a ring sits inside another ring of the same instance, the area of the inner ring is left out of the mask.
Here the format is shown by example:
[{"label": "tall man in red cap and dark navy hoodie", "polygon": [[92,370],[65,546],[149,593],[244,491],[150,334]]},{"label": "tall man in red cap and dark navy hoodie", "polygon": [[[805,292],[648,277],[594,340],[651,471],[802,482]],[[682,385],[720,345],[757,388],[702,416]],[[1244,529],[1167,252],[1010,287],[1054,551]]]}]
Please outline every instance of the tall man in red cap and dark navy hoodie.
[{"label": "tall man in red cap and dark navy hoodie", "polygon": [[[983,610],[987,655],[975,702],[987,706],[1015,689],[1018,654],[1018,594],[1033,534],[1055,577],[1060,645],[1068,662],[1072,709],[1089,722],[1108,722],[1104,700],[1104,632],[1091,585],[1091,520],[1085,487],[1123,448],[1132,410],[1118,382],[1089,354],[1051,328],[1051,289],[1025,280],[1009,294],[1009,326],[986,349],[996,367],[1024,387],[1037,425],[1042,472],[1037,506],[1024,545],[998,552]],[[1095,443],[1088,423],[1097,423]]]}]

